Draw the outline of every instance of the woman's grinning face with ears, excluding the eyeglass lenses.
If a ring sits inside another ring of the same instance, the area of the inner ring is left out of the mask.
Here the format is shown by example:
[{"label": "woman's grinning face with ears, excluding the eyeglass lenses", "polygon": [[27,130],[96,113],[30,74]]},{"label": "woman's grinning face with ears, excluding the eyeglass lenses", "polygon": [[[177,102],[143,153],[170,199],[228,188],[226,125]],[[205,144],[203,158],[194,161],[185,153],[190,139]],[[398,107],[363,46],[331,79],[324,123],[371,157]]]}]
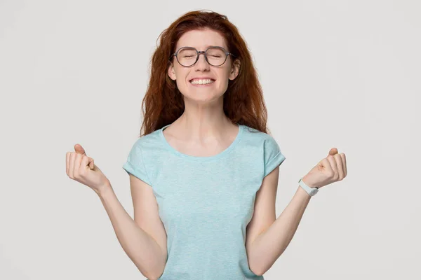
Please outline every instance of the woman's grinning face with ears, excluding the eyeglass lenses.
[{"label": "woman's grinning face with ears, excluding the eyeglass lenses", "polygon": [[[182,47],[193,47],[204,51],[211,45],[231,51],[227,48],[225,38],[211,29],[187,31],[178,40],[175,51]],[[234,80],[238,75],[240,66],[239,60],[234,60],[232,55],[228,55],[227,61],[220,66],[208,64],[203,54],[199,55],[196,64],[189,67],[180,65],[175,57],[171,61],[168,76],[176,81],[178,90],[185,99],[196,102],[215,102],[220,99],[227,90],[228,81]],[[210,80],[210,83],[199,82],[201,79]]]}]

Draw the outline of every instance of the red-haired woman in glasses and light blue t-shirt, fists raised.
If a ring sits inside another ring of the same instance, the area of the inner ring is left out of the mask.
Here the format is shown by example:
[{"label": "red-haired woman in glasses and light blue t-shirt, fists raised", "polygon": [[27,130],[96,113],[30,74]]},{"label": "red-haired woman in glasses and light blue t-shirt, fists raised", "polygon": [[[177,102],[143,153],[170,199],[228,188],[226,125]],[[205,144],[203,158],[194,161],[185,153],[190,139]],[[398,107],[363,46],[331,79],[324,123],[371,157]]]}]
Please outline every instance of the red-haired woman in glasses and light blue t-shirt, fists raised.
[{"label": "red-haired woman in glasses and light blue t-shirt, fists raised", "polygon": [[[134,221],[80,145],[67,174],[100,196],[117,238],[148,279],[263,279],[310,197],[346,176],[333,148],[276,219],[279,165],[246,43],[227,17],[194,11],[161,34],[144,122],[123,169]],[[141,130],[141,132],[142,132]]]}]

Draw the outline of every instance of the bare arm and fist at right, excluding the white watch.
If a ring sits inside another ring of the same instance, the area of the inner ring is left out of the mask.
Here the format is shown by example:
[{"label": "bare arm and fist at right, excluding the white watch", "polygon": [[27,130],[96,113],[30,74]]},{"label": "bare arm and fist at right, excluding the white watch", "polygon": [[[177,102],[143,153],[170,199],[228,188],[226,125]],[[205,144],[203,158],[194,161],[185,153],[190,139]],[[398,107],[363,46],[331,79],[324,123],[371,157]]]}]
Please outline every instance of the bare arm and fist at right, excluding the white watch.
[{"label": "bare arm and fist at right, excluding the white watch", "polygon": [[[321,188],[330,183],[342,181],[345,176],[347,176],[345,153],[338,153],[337,148],[331,148],[328,156],[318,162],[303,177],[303,180],[309,186]],[[255,214],[257,215],[253,215],[250,221],[250,237],[246,241],[247,253],[250,255],[249,266],[251,268],[253,265],[259,274],[265,273],[285,251],[311,199],[311,196],[298,186],[293,199],[275,220],[278,177],[279,168],[276,168],[263,179],[261,190],[258,191],[259,194],[256,197],[255,212],[257,213]]]}]

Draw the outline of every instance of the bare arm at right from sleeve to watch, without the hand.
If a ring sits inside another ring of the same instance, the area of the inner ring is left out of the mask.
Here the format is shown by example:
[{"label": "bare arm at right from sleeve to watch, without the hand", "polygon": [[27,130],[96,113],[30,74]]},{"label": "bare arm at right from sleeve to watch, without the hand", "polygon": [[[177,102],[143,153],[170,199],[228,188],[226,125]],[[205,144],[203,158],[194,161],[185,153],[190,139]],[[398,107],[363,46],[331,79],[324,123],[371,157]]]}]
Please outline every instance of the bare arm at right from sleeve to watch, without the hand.
[{"label": "bare arm at right from sleeve to watch, without the hand", "polygon": [[248,229],[247,253],[249,267],[262,275],[285,251],[301,221],[310,196],[298,186],[293,199],[276,218],[275,197],[279,168],[265,177],[256,197],[255,214]]}]

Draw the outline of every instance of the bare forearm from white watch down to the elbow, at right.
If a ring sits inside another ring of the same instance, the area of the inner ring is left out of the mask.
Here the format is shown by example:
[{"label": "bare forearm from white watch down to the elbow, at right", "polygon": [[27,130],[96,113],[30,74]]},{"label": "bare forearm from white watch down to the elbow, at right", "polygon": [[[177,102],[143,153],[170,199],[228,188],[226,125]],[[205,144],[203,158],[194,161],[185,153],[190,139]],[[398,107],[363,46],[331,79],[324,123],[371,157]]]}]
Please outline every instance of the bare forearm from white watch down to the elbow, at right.
[{"label": "bare forearm from white watch down to the elbow, at right", "polygon": [[272,267],[293,239],[310,199],[306,191],[298,186],[293,199],[281,215],[265,232],[256,237],[249,253],[249,262],[253,264],[253,269],[263,274]]}]

